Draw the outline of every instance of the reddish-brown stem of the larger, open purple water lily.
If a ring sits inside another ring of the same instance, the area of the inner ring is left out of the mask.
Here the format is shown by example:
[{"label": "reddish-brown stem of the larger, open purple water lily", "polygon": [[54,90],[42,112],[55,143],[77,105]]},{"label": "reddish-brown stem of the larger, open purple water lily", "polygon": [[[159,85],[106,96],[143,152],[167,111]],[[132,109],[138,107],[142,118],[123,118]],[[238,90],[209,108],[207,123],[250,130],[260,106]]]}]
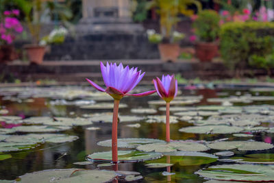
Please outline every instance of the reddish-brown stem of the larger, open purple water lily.
[{"label": "reddish-brown stem of the larger, open purple water lily", "polygon": [[112,118],[112,162],[118,162],[118,148],[117,148],[117,126],[118,126],[118,110],[119,100],[114,100],[113,118]]}]

